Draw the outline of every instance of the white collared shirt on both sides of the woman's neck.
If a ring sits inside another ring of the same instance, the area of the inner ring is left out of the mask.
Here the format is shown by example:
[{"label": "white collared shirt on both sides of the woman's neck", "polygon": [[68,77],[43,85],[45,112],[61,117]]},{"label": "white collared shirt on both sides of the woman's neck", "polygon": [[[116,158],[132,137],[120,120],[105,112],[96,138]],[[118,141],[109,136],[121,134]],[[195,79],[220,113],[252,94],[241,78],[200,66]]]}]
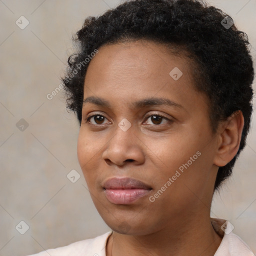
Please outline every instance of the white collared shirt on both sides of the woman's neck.
[{"label": "white collared shirt on both sides of the woman's neck", "polygon": [[[210,218],[210,221],[216,233],[222,237],[214,256],[255,256],[249,246],[232,232],[233,226],[229,221],[220,218]],[[106,241],[111,233],[112,231],[109,231],[95,238],[28,256],[105,256]]]}]

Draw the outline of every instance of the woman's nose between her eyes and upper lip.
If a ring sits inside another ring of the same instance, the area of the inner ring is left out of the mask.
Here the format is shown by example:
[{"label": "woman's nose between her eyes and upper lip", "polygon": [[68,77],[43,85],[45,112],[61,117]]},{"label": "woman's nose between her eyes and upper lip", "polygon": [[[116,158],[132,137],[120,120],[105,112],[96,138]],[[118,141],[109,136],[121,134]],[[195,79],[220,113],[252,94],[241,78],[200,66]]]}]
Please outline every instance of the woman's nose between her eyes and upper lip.
[{"label": "woman's nose between her eyes and upper lip", "polygon": [[132,126],[124,131],[116,125],[114,135],[107,142],[102,157],[108,165],[122,166],[127,162],[133,162],[135,165],[142,164],[144,162],[143,145]]}]

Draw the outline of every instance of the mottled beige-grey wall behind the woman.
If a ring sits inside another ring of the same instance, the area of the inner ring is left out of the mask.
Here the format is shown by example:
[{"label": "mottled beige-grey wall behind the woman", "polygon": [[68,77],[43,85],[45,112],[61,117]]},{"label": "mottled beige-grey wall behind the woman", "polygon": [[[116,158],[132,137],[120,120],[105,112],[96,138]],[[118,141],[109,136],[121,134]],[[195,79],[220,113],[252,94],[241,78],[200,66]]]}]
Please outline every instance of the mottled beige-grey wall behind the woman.
[{"label": "mottled beige-grey wall behind the woman", "polygon": [[[110,230],[86,189],[76,156],[79,126],[65,109],[63,91],[51,100],[46,95],[60,83],[72,52],[71,36],[84,18],[119,2],[0,0],[0,255],[31,254]],[[248,34],[255,61],[256,0],[208,3],[230,14]],[[15,24],[21,15],[29,21],[24,29]],[[255,114],[248,145],[233,176],[214,196],[211,211],[213,217],[228,219],[254,253]],[[23,131],[16,126],[21,118],[28,123]],[[81,175],[75,183],[66,177],[71,169]],[[24,234],[18,232],[21,220],[29,226]]]}]

